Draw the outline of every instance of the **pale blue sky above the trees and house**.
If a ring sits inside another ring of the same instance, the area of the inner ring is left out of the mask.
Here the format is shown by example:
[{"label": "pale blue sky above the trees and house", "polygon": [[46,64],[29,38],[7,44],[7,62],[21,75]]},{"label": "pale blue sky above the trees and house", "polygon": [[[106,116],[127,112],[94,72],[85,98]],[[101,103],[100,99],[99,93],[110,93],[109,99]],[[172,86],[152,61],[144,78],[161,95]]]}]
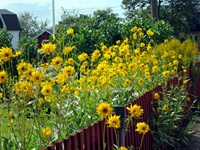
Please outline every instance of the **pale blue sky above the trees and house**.
[{"label": "pale blue sky above the trees and house", "polygon": [[[79,14],[92,14],[94,10],[111,8],[114,13],[123,16],[122,0],[54,0],[55,20],[60,20],[62,8],[77,10]],[[30,12],[38,20],[48,19],[52,25],[52,0],[1,0],[0,9],[7,9],[16,14]]]}]

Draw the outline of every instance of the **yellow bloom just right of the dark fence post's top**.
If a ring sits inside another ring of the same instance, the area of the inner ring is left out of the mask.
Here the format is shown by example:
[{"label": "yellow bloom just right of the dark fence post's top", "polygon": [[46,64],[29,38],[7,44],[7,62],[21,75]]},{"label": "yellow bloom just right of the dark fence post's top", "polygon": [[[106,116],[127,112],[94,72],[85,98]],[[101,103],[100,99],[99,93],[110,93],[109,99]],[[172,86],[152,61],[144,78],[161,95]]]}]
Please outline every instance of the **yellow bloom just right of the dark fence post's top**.
[{"label": "yellow bloom just right of the dark fence post's top", "polygon": [[130,105],[130,107],[126,107],[126,109],[129,111],[132,117],[140,117],[144,113],[144,110],[141,108],[141,106],[137,104]]}]

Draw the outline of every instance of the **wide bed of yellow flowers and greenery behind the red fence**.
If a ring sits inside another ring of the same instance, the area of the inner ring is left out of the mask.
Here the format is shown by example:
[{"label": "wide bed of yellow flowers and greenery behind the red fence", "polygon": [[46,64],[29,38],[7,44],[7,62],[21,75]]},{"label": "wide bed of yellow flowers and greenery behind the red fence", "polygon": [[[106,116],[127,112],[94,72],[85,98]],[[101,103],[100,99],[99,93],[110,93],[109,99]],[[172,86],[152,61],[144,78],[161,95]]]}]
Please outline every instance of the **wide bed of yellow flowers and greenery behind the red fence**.
[{"label": "wide bed of yellow flowers and greenery behind the red fence", "polygon": [[126,105],[196,61],[191,40],[155,45],[146,40],[153,38],[153,31],[144,33],[138,27],[116,45],[102,43],[91,55],[77,56],[76,47],[64,43],[73,38],[69,31],[43,44],[32,64],[23,61],[20,51],[0,49],[4,147],[37,149],[63,139],[100,120],[100,102]]}]

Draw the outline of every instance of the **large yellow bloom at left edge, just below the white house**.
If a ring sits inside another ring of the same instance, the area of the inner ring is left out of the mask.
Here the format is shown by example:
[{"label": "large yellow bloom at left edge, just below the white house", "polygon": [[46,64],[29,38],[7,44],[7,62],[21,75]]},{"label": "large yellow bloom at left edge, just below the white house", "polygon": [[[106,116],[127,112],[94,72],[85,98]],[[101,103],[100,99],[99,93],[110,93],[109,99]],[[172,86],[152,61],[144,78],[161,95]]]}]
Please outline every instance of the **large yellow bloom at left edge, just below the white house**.
[{"label": "large yellow bloom at left edge, just below the white house", "polygon": [[8,47],[2,47],[0,49],[0,58],[2,61],[6,62],[9,61],[10,58],[13,56],[13,52],[11,48]]}]

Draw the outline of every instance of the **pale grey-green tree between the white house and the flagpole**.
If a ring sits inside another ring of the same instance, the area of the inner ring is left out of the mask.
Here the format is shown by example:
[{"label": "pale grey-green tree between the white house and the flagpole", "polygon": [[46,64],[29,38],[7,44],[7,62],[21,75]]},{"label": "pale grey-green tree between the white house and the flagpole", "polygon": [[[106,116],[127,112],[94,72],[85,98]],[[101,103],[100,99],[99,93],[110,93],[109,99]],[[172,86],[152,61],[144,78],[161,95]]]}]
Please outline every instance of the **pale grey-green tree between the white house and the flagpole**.
[{"label": "pale grey-green tree between the white house and the flagpole", "polygon": [[38,21],[38,18],[29,12],[23,12],[18,15],[22,27],[21,37],[30,38],[37,36],[42,30],[47,29],[48,20]]}]

